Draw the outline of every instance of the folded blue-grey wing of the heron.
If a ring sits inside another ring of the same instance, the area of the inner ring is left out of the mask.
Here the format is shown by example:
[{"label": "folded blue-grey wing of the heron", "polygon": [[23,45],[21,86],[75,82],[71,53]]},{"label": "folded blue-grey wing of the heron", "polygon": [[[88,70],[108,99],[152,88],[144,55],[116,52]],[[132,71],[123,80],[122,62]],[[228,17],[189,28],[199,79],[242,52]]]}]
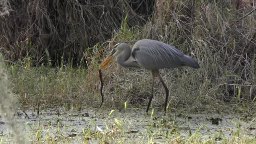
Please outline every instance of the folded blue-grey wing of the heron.
[{"label": "folded blue-grey wing of the heron", "polygon": [[133,58],[146,69],[185,66],[188,57],[174,46],[156,40],[139,40],[133,45]]}]

